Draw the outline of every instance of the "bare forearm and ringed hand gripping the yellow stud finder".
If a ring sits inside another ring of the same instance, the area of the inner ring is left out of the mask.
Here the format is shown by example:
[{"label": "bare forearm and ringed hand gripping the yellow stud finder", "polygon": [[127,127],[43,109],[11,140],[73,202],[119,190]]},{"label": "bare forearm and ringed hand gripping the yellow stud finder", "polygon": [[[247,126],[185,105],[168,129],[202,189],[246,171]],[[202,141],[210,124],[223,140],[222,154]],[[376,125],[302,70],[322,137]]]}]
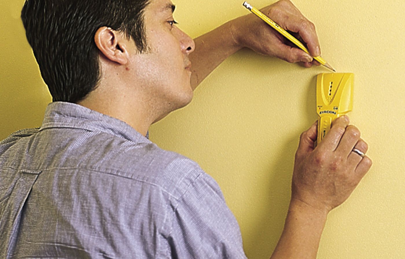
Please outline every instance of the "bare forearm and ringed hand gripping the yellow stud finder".
[{"label": "bare forearm and ringed hand gripping the yellow stud finder", "polygon": [[368,145],[347,116],[337,118],[314,148],[317,124],[301,135],[295,156],[292,194],[283,233],[271,259],[315,259],[326,216],[342,204],[369,171]]}]

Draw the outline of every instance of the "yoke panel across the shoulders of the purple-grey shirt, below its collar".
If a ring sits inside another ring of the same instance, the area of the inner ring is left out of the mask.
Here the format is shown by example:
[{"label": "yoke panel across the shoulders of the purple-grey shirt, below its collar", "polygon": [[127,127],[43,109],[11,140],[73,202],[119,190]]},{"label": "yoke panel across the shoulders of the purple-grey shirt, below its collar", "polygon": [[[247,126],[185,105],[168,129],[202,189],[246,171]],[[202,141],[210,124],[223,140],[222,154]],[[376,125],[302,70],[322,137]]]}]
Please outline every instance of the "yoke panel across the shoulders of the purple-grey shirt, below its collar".
[{"label": "yoke panel across the shoulders of the purple-grey shirt, below its collar", "polygon": [[[200,175],[205,175],[192,159],[163,150],[150,141],[136,143],[104,132],[62,131],[44,132],[39,128],[17,131],[0,142],[0,156],[6,153],[3,160],[16,168],[17,160],[27,160],[29,165],[22,162],[23,166],[31,169],[73,170],[140,181],[175,198]],[[20,154],[25,155],[16,159]]]}]

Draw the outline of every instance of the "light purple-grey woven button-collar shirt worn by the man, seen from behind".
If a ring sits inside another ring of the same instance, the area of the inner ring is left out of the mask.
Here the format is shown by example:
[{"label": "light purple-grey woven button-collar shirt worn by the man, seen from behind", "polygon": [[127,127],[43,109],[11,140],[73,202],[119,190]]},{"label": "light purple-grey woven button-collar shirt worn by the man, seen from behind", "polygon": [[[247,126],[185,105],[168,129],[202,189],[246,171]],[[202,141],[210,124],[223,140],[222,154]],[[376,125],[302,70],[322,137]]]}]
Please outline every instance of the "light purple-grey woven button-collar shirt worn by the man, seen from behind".
[{"label": "light purple-grey woven button-collar shirt worn by the man, seen from behind", "polygon": [[0,233],[2,259],[246,258],[196,162],[65,102],[0,142]]}]

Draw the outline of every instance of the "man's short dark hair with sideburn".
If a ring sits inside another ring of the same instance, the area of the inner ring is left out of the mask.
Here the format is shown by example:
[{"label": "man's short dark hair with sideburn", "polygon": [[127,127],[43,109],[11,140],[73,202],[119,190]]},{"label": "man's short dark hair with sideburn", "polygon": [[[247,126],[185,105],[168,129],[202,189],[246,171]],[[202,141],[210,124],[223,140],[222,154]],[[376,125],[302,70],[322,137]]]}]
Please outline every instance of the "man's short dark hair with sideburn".
[{"label": "man's short dark hair with sideburn", "polygon": [[146,47],[147,0],[26,0],[21,19],[53,101],[77,102],[100,80],[94,34],[109,26]]}]

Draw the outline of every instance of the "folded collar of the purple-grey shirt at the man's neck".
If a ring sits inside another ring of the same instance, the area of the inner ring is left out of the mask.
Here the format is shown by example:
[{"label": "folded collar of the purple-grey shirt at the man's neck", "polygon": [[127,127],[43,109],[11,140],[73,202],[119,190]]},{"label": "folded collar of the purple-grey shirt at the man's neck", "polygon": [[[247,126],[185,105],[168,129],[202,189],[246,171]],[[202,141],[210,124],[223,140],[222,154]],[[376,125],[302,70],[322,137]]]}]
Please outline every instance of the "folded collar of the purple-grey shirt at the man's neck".
[{"label": "folded collar of the purple-grey shirt at the man's neck", "polygon": [[49,103],[40,131],[45,128],[80,128],[109,133],[135,143],[152,143],[149,131],[145,137],[122,120],[75,103]]}]

